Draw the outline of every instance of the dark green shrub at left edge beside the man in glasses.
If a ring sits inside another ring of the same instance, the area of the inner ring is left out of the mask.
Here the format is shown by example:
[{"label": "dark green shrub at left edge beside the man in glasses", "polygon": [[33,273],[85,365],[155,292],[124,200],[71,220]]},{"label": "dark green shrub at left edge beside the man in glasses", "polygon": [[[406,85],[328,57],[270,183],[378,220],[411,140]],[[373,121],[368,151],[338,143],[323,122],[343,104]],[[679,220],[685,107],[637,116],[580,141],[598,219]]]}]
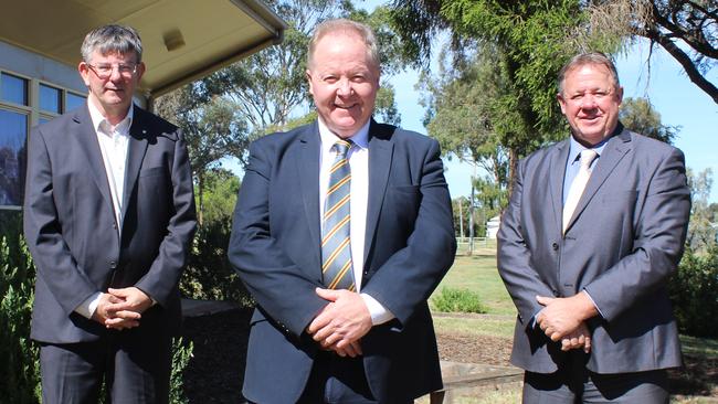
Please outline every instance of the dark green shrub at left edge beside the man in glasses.
[{"label": "dark green shrub at left edge beside the man in glasses", "polygon": [[40,401],[38,347],[30,340],[35,269],[18,212],[0,212],[0,402]]}]

